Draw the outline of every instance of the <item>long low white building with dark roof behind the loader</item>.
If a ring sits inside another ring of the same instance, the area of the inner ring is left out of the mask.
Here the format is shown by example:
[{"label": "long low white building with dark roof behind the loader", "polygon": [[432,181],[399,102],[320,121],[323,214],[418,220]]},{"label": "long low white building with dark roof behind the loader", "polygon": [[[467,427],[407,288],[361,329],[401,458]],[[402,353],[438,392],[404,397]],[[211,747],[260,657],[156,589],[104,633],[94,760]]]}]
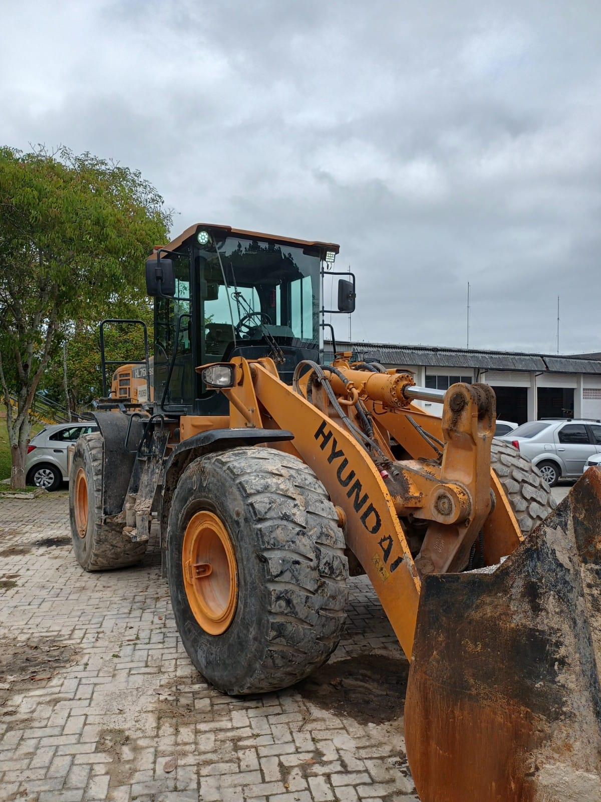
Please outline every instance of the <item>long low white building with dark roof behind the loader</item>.
[{"label": "long low white building with dark roof behind the loader", "polygon": [[[522,354],[514,351],[341,342],[338,351],[413,375],[422,387],[485,382],[497,395],[497,417],[525,423],[539,418],[601,419],[601,354]],[[332,357],[325,342],[325,360]],[[420,402],[439,413],[441,405]]]}]

